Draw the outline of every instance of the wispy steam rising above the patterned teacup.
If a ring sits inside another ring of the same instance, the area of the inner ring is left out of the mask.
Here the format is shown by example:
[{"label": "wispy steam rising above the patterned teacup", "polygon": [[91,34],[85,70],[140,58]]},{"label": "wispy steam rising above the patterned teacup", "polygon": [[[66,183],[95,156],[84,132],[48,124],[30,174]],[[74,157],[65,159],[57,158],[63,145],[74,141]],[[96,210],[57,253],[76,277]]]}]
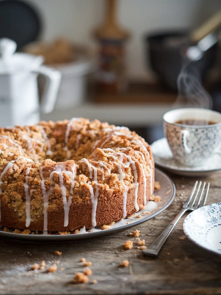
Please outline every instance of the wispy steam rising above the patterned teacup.
[{"label": "wispy steam rising above the patterned teacup", "polygon": [[173,108],[200,107],[212,109],[212,98],[203,88],[199,72],[191,62],[186,62],[177,77],[178,96]]}]

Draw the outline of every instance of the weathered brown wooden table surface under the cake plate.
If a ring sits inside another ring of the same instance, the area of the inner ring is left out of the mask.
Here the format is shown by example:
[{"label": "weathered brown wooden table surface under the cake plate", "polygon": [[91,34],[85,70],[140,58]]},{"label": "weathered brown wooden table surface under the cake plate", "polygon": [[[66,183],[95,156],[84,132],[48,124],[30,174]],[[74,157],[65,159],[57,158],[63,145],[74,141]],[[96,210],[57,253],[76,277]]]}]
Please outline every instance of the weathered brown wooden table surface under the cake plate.
[{"label": "weathered brown wooden table surface under the cake plate", "polygon": [[[124,250],[123,243],[135,237],[150,245],[176,215],[187,198],[195,178],[170,175],[177,193],[174,202],[153,219],[106,237],[76,242],[27,242],[1,238],[0,294],[221,294],[221,257],[197,247],[182,230],[184,217],[175,227],[157,258],[144,258],[142,251]],[[207,203],[221,201],[221,172],[203,178],[210,181]],[[62,251],[56,256],[55,251]],[[83,271],[80,258],[92,262],[90,281],[73,284],[75,272]],[[125,268],[119,264],[128,259]],[[54,273],[27,271],[33,263],[55,261]],[[62,269],[60,269],[62,268]],[[63,269],[65,268],[65,269]]]}]

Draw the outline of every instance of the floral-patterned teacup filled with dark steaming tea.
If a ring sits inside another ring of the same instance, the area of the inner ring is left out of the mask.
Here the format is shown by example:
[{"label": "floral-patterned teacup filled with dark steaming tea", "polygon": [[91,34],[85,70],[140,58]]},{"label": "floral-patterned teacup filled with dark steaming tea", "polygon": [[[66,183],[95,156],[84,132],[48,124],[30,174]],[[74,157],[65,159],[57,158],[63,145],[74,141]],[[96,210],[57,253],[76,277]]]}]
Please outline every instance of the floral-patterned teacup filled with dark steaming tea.
[{"label": "floral-patterned teacup filled with dark steaming tea", "polygon": [[174,158],[197,166],[221,144],[221,114],[209,109],[183,108],[163,116],[164,134]]}]

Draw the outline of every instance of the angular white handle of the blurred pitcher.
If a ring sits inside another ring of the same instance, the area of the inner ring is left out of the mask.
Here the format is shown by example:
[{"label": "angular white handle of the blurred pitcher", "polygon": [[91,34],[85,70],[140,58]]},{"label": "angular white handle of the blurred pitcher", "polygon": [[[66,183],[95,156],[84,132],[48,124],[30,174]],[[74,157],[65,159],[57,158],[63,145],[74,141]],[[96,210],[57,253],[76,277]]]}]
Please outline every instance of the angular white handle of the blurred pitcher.
[{"label": "angular white handle of the blurred pitcher", "polygon": [[61,73],[58,70],[45,65],[41,65],[34,72],[42,74],[47,78],[47,82],[42,94],[40,110],[44,114],[48,114],[53,111],[55,106],[57,92],[61,82]]}]

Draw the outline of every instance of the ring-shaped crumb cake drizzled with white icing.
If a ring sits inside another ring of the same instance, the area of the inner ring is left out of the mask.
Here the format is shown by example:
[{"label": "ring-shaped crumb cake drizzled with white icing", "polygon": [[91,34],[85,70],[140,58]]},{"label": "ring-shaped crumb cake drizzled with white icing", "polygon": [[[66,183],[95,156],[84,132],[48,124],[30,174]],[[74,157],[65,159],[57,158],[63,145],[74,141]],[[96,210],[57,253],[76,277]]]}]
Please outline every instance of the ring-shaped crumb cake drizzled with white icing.
[{"label": "ring-shaped crumb cake drizzled with white icing", "polygon": [[0,129],[0,224],[71,231],[143,208],[154,188],[150,146],[127,127],[84,118]]}]

